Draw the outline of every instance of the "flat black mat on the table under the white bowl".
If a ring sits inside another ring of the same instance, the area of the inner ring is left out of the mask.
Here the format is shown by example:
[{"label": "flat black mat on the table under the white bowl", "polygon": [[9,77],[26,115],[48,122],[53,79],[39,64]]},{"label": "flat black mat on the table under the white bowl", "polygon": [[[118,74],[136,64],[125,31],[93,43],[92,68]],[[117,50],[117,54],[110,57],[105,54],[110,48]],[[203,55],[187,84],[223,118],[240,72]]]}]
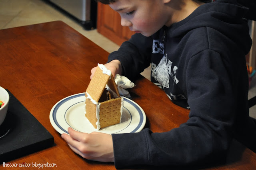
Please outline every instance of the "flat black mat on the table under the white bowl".
[{"label": "flat black mat on the table under the white bowl", "polygon": [[54,138],[36,118],[10,95],[8,111],[0,126],[0,164],[54,144]]}]

